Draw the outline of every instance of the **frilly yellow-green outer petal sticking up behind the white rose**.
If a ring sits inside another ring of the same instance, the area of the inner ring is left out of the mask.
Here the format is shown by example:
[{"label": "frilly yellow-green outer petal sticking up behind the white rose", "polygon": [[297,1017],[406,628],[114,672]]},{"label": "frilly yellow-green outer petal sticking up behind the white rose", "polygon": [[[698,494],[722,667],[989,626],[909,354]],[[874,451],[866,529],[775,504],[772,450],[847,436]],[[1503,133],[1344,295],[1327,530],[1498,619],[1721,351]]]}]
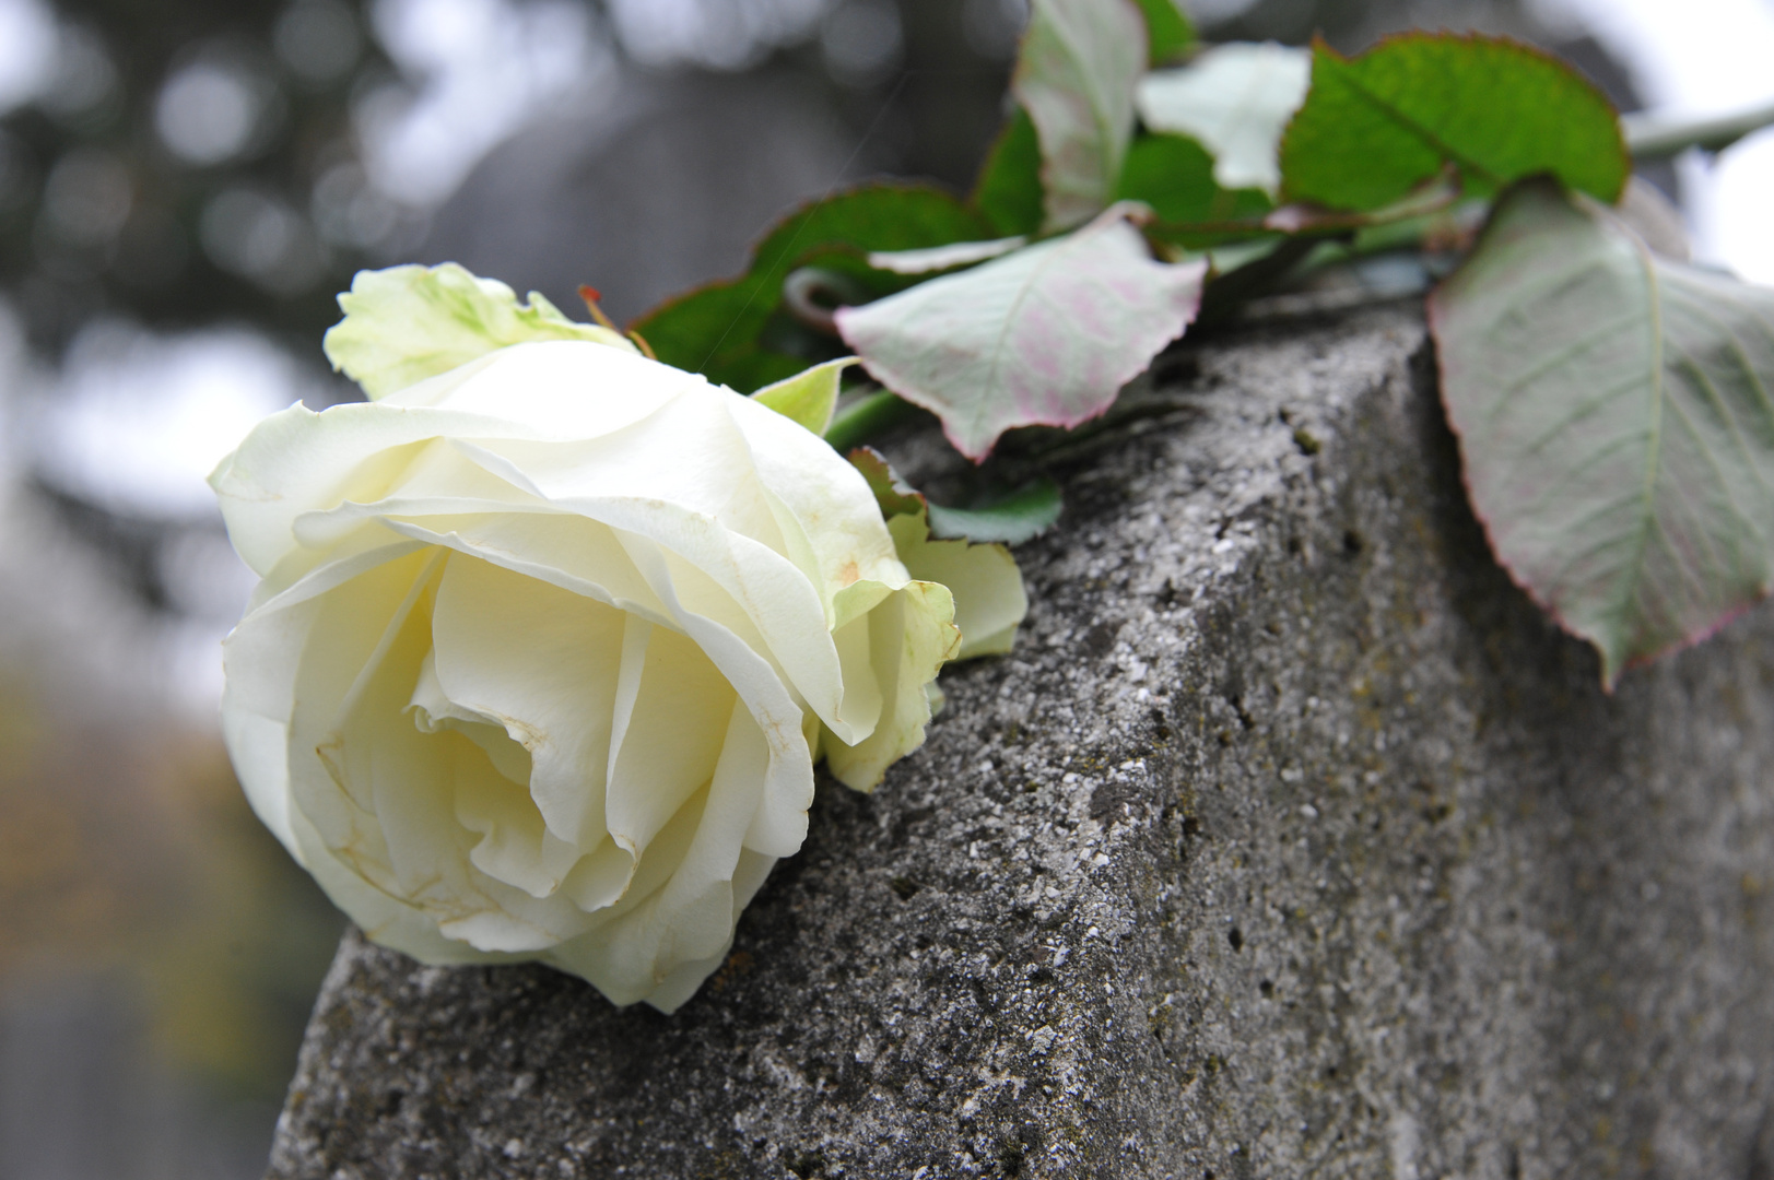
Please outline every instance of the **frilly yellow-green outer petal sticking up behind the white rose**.
[{"label": "frilly yellow-green outer petal sticking up behind the white rose", "polygon": [[326,332],[326,358],[371,401],[507,344],[593,341],[635,351],[621,334],[568,319],[536,291],[518,303],[506,284],[456,263],[360,270],[339,309],[344,319]]}]

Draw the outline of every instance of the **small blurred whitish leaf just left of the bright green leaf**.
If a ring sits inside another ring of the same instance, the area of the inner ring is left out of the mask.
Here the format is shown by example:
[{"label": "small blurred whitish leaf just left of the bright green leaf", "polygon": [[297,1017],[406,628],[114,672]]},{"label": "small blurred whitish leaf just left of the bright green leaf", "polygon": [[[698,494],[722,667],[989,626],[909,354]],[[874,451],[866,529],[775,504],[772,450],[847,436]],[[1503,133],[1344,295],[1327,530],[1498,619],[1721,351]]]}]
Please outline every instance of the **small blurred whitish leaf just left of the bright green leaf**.
[{"label": "small blurred whitish leaf just left of the bright green leaf", "polygon": [[1281,131],[1306,101],[1313,57],[1265,41],[1206,50],[1181,69],[1141,78],[1135,103],[1153,131],[1187,135],[1213,154],[1221,188],[1281,186]]}]

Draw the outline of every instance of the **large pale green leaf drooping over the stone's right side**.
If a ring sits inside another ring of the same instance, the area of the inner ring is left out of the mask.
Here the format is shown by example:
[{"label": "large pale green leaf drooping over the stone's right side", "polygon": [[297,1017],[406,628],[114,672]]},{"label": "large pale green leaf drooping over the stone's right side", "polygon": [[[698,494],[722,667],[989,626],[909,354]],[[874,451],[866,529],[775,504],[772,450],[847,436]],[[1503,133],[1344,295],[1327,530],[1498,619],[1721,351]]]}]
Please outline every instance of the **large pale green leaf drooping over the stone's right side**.
[{"label": "large pale green leaf drooping over the stone's right side", "polygon": [[1769,593],[1774,291],[1660,259],[1535,181],[1430,325],[1492,548],[1607,685]]}]

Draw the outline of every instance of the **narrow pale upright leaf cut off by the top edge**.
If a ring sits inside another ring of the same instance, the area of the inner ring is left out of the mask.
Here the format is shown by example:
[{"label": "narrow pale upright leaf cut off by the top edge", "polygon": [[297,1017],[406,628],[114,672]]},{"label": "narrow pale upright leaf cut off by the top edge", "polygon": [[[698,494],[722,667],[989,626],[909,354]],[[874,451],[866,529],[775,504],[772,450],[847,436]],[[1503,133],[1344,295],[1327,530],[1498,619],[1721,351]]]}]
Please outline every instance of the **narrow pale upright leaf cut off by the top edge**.
[{"label": "narrow pale upright leaf cut off by the top edge", "polygon": [[1114,197],[1144,71],[1146,21],[1132,0],[1031,5],[1009,85],[1041,144],[1041,229],[1070,229]]}]

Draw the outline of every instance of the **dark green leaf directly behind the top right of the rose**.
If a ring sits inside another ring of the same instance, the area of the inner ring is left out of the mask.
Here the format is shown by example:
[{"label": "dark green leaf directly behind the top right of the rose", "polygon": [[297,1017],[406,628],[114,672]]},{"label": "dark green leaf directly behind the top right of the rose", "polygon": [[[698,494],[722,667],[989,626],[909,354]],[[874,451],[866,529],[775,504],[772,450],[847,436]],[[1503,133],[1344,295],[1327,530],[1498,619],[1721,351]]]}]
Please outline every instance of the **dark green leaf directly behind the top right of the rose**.
[{"label": "dark green leaf directly behind the top right of the rose", "polygon": [[669,300],[633,326],[665,364],[750,392],[825,358],[788,351],[786,341],[798,337],[804,351],[825,348],[827,357],[836,351],[836,341],[812,335],[782,309],[782,280],[793,270],[820,263],[859,279],[869,295],[889,295],[910,280],[871,270],[869,252],[921,250],[990,234],[979,213],[938,188],[853,188],[779,222],[757,243],[745,275]]}]

